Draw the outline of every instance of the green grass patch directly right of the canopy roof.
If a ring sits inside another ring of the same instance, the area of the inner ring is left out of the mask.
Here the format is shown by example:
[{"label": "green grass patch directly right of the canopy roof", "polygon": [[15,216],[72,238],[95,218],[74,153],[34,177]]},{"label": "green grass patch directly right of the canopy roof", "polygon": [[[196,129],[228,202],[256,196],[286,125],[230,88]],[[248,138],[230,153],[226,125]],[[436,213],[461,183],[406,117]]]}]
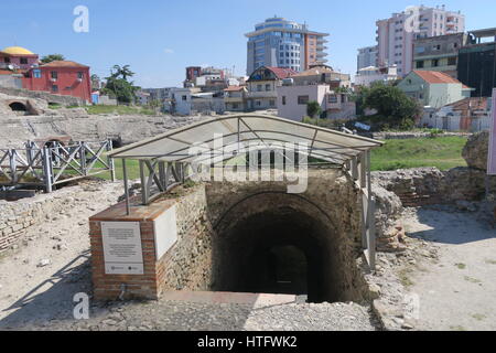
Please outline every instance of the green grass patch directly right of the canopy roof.
[{"label": "green grass patch directly right of the canopy roof", "polygon": [[449,170],[466,167],[462,150],[465,137],[433,137],[406,140],[387,140],[371,152],[371,170],[388,171],[421,167]]}]

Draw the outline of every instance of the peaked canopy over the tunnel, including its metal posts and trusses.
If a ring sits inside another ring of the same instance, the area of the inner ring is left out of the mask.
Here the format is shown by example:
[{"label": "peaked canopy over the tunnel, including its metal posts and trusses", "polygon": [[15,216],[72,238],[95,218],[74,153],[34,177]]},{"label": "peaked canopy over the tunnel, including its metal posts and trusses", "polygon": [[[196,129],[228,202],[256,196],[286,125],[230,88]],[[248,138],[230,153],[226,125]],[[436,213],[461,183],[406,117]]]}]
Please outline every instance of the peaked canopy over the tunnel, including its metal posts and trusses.
[{"label": "peaked canopy over the tunnel, including its metal posts and trusses", "polygon": [[[216,133],[219,132],[223,133],[223,145],[216,146]],[[342,168],[359,190],[364,255],[369,267],[375,268],[375,200],[370,183],[370,150],[382,146],[384,142],[274,116],[242,114],[215,117],[111,151],[109,158],[122,160],[127,214],[129,215],[131,210],[127,160],[139,160],[141,199],[145,205],[193,176],[186,175],[187,169],[191,163],[198,163],[198,156],[188,153],[191,147],[203,145],[209,156],[209,162],[205,164],[224,168],[224,164],[217,163],[240,156],[225,156],[225,148],[238,143],[237,152],[245,152],[239,147],[247,142],[250,148],[255,146],[256,150],[269,149],[285,159],[288,150],[283,143],[306,143],[303,150],[298,150],[299,154],[315,157]],[[294,149],[290,152],[294,153]],[[152,194],[153,185],[158,189],[155,194]]]}]

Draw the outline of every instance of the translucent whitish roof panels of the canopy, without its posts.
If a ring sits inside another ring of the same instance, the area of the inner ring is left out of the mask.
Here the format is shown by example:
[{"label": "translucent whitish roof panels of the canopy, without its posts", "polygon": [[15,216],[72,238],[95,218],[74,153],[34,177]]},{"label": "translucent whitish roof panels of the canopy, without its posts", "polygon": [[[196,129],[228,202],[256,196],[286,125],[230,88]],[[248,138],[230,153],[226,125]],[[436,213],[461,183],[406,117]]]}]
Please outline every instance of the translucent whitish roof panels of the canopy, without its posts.
[{"label": "translucent whitish roof panels of the canopy, without its posts", "polygon": [[[193,146],[202,145],[213,156],[224,156],[224,147],[238,142],[259,149],[276,149],[278,145],[282,147],[282,143],[302,143],[306,146],[308,156],[337,164],[382,145],[374,139],[274,116],[246,114],[206,119],[116,149],[109,156],[119,159],[191,162],[197,159],[197,154],[190,153]],[[228,158],[216,157],[217,161],[225,159]]]}]

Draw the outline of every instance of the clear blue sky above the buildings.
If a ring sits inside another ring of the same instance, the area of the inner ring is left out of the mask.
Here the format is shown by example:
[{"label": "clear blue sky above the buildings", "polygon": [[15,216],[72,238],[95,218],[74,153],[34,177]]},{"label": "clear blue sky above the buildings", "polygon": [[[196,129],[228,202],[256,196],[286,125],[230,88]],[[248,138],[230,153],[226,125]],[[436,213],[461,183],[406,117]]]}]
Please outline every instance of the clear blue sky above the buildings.
[{"label": "clear blue sky above the buildings", "polygon": [[[1,7],[0,49],[61,53],[100,77],[116,64],[130,65],[143,88],[181,86],[186,66],[229,67],[245,75],[245,33],[278,15],[330,33],[327,64],[354,74],[357,49],[375,45],[376,20],[412,4],[460,10],[466,30],[496,28],[495,0],[23,0]],[[74,31],[77,6],[89,11],[88,32]]]}]

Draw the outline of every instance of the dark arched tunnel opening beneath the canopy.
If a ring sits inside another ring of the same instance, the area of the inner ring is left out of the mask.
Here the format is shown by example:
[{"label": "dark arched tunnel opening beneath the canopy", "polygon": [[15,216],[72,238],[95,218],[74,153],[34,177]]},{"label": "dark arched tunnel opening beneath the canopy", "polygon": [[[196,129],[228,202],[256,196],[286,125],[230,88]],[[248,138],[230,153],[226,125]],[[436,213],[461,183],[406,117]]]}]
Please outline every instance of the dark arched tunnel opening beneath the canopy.
[{"label": "dark arched tunnel opening beneath the canopy", "polygon": [[[346,247],[326,215],[302,200],[265,194],[229,211],[222,222],[229,225],[218,227],[213,244],[214,290],[306,295],[310,302],[345,299]],[[247,215],[256,202],[268,207]]]}]

